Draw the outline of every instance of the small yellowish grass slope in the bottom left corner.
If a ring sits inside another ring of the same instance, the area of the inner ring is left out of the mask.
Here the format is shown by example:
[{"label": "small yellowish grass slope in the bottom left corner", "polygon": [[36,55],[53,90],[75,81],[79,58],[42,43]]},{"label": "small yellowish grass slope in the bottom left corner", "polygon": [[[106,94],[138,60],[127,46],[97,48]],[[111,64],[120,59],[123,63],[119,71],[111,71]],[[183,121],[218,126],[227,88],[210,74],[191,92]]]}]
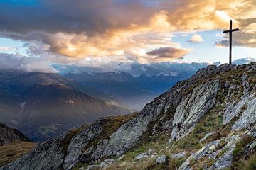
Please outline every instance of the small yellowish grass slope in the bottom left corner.
[{"label": "small yellowish grass slope in the bottom left corner", "polygon": [[0,147],[0,167],[13,162],[36,147],[36,143],[15,141]]}]

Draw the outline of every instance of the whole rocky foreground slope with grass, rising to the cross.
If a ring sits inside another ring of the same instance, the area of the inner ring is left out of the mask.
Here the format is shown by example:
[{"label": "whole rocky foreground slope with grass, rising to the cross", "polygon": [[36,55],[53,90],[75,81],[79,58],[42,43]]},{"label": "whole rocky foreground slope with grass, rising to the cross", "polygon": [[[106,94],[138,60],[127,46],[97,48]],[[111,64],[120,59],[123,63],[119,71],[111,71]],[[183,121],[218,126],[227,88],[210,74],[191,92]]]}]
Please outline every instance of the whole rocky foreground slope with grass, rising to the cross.
[{"label": "whole rocky foreground slope with grass, rising to the cross", "polygon": [[[169,169],[238,168],[241,158],[254,155],[255,121],[256,64],[208,66],[146,104],[139,114],[102,118],[67,132],[2,169],[72,169],[119,156],[112,165],[107,165],[109,159],[101,162],[101,167],[154,169],[159,166],[152,164],[154,154],[170,157],[164,161]],[[138,158],[132,153],[146,148],[142,146],[157,151],[141,155],[152,165],[129,164]],[[177,155],[183,158],[178,164]]]}]

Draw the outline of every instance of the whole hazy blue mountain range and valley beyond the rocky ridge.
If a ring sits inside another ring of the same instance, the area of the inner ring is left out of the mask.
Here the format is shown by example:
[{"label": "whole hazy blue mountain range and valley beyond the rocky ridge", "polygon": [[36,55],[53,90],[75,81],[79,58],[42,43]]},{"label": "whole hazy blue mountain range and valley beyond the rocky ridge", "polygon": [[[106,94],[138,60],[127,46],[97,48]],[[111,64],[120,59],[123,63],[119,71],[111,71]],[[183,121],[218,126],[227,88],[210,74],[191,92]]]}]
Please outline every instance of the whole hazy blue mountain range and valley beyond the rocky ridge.
[{"label": "whole hazy blue mountain range and valley beyond the rocky ridge", "polygon": [[190,74],[60,75],[1,69],[0,121],[21,130],[33,141],[43,141],[97,118],[137,111]]}]

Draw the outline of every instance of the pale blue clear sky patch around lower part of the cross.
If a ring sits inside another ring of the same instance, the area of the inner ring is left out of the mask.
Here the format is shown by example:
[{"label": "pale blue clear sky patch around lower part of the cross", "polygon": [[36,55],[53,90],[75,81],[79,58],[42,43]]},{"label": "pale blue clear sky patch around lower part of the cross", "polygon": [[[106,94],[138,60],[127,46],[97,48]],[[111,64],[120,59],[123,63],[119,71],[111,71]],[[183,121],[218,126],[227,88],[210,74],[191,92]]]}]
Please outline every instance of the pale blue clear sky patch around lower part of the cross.
[{"label": "pale blue clear sky patch around lower part of the cross", "polygon": [[[229,48],[228,47],[217,47],[215,42],[222,40],[222,37],[216,35],[222,35],[222,30],[210,30],[200,31],[196,34],[201,35],[203,42],[191,43],[188,40],[195,33],[188,33],[186,37],[182,37],[182,34],[174,36],[174,42],[181,42],[183,47],[193,48],[193,51],[183,57],[184,62],[221,62],[228,63]],[[256,59],[256,48],[255,47],[242,47],[233,46],[233,60],[240,58],[255,58]]]}]

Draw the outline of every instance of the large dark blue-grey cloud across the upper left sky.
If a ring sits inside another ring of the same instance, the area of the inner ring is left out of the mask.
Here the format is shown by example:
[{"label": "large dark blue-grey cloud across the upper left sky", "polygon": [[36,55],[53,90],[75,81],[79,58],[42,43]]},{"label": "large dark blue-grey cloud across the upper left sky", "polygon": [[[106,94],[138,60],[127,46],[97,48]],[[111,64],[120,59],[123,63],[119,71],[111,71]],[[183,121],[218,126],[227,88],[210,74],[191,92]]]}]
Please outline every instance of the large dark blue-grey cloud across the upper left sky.
[{"label": "large dark blue-grey cloud across the upper left sky", "polygon": [[[20,2],[20,3],[18,3]],[[0,1],[0,30],[26,34],[97,33],[113,27],[143,23],[152,6],[143,1],[38,0]]]}]

